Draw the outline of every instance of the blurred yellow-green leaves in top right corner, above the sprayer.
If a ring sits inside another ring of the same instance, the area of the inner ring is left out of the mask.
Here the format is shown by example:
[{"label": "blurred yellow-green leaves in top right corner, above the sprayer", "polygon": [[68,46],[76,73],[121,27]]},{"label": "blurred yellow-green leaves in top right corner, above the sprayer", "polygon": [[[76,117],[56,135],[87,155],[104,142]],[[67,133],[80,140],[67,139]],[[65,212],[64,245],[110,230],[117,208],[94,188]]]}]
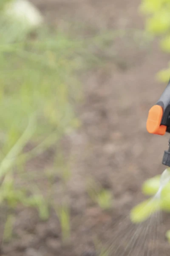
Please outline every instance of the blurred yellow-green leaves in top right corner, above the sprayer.
[{"label": "blurred yellow-green leaves in top right corner, above the sprayer", "polygon": [[[160,37],[160,47],[170,53],[170,0],[142,0],[141,12],[147,16],[146,30]],[[160,81],[170,78],[170,64],[157,75]]]}]

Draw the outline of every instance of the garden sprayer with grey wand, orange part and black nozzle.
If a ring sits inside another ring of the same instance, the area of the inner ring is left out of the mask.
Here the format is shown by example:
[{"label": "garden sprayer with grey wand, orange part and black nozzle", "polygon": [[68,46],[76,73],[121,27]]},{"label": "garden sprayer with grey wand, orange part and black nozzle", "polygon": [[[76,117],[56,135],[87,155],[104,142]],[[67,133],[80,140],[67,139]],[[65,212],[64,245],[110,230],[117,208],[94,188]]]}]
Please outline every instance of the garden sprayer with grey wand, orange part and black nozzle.
[{"label": "garden sprayer with grey wand, orange part and black nozzle", "polygon": [[[147,117],[147,131],[150,134],[158,135],[170,133],[170,81],[156,105],[150,108]],[[170,167],[170,140],[169,149],[164,151],[162,164]]]}]

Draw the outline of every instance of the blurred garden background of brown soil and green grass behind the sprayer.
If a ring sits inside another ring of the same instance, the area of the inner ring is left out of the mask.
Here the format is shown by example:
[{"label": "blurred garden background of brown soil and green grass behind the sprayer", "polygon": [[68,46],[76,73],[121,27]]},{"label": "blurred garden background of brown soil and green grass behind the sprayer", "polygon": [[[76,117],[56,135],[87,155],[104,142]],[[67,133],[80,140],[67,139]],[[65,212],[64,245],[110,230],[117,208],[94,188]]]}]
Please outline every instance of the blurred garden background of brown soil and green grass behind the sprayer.
[{"label": "blurred garden background of brown soil and green grass behind the sprayer", "polygon": [[169,16],[145,26],[151,2],[1,0],[0,255],[115,255],[128,234],[168,146],[146,131],[170,45]]}]

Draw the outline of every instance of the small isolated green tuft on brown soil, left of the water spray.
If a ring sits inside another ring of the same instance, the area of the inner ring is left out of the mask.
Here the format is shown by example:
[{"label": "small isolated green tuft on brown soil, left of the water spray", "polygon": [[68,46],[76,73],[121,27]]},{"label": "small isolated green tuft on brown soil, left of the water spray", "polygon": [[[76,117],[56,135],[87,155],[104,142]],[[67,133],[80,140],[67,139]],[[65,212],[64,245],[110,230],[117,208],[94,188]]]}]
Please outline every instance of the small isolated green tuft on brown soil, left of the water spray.
[{"label": "small isolated green tuft on brown soil, left of the water spray", "polygon": [[102,209],[110,209],[112,206],[112,194],[108,189],[102,188],[100,183],[90,179],[87,183],[88,195]]}]

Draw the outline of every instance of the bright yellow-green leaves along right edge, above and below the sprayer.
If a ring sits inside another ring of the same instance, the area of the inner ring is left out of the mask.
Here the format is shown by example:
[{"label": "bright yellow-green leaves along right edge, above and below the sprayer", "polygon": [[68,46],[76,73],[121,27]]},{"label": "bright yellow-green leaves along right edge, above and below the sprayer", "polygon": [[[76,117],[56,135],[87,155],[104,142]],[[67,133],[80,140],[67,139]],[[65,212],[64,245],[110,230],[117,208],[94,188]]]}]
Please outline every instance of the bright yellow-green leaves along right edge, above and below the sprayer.
[{"label": "bright yellow-green leaves along right edge, above and below the sprayer", "polygon": [[[167,54],[170,53],[170,0],[142,0],[140,6],[142,14],[146,15],[146,31],[160,39],[160,48]],[[167,82],[170,79],[170,65],[167,69],[157,74],[159,81]],[[144,195],[153,196],[158,192],[160,176],[146,180],[142,186]],[[160,199],[150,198],[134,207],[130,213],[131,221],[139,223],[146,220],[158,210],[170,212],[170,182],[161,190]],[[170,238],[170,232],[167,232]]]}]

